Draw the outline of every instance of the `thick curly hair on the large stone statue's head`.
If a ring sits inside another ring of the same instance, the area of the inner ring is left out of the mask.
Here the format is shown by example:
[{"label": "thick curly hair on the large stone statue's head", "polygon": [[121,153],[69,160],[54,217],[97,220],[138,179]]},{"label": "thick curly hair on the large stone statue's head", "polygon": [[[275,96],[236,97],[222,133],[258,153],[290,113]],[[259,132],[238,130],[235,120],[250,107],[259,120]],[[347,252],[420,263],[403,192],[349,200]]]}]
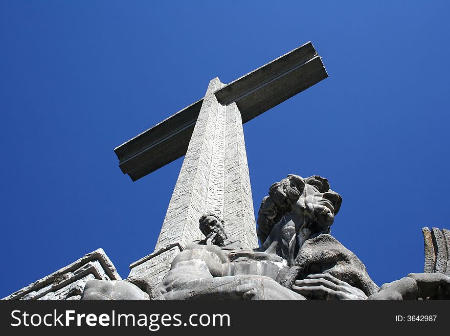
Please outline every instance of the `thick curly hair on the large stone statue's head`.
[{"label": "thick curly hair on the large stone statue's head", "polygon": [[286,178],[274,183],[269,188],[269,195],[262,199],[258,211],[258,229],[256,232],[261,243],[264,243],[267,239],[274,225],[285,214],[292,211],[292,205],[300,198],[306,183],[318,187],[321,193],[331,191],[328,180],[319,175],[307,178],[299,175],[287,175]]}]

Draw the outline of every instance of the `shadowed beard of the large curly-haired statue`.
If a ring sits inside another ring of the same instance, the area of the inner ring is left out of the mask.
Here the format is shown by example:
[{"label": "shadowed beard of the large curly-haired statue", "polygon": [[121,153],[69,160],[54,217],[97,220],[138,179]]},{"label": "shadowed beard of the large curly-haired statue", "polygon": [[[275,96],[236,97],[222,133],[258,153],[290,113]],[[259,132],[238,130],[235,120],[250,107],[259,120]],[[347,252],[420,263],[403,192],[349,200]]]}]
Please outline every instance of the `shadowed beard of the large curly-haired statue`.
[{"label": "shadowed beard of the large curly-haired statue", "polygon": [[330,233],[334,213],[329,207],[318,203],[306,203],[304,215],[302,228],[309,229],[312,234]]}]

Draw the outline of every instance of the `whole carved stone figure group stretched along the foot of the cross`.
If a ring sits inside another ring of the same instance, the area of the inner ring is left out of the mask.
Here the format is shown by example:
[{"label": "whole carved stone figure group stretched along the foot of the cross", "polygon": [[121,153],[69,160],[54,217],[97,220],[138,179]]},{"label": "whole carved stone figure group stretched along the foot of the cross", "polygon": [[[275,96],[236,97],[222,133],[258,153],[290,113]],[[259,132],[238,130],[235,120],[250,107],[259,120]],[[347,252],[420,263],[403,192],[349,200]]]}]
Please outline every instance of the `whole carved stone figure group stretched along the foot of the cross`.
[{"label": "whole carved stone figure group stretched along the foot of the cross", "polygon": [[[151,279],[116,284],[93,280],[86,284],[82,299],[448,298],[450,278],[443,274],[410,274],[379,289],[364,264],[330,235],[341,203],[326,178],[288,175],[273,184],[262,200],[257,230],[260,248],[244,248],[227,235],[220,216],[207,213],[199,219],[205,238],[175,257],[159,291]],[[115,286],[120,290],[114,290]]]}]

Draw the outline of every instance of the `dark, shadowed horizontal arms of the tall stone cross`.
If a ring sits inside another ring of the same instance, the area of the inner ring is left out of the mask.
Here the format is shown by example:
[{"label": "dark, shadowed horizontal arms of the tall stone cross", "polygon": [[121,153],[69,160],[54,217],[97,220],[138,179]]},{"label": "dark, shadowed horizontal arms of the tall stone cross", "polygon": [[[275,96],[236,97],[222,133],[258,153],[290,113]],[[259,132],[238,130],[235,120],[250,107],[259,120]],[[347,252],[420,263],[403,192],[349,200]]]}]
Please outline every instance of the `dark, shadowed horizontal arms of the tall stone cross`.
[{"label": "dark, shadowed horizontal arms of the tall stone cross", "polygon": [[[245,123],[328,77],[311,42],[223,86],[217,100],[236,102]],[[203,99],[128,140],[114,151],[132,181],[181,158],[191,139]]]}]

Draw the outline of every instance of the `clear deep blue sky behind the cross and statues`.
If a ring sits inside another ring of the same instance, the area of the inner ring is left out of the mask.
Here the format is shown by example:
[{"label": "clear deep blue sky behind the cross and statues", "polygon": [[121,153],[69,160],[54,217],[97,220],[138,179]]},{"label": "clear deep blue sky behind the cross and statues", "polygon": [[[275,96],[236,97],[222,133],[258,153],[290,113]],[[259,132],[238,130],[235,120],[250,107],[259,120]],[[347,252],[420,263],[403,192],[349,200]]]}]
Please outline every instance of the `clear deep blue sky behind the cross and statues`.
[{"label": "clear deep blue sky behind the cross and statues", "polygon": [[435,1],[0,2],[0,297],[102,247],[151,253],[182,159],[132,183],[113,149],[311,40],[329,78],[244,125],[255,212],[289,173],[343,197],[332,234],[380,284],[450,228],[450,20]]}]

